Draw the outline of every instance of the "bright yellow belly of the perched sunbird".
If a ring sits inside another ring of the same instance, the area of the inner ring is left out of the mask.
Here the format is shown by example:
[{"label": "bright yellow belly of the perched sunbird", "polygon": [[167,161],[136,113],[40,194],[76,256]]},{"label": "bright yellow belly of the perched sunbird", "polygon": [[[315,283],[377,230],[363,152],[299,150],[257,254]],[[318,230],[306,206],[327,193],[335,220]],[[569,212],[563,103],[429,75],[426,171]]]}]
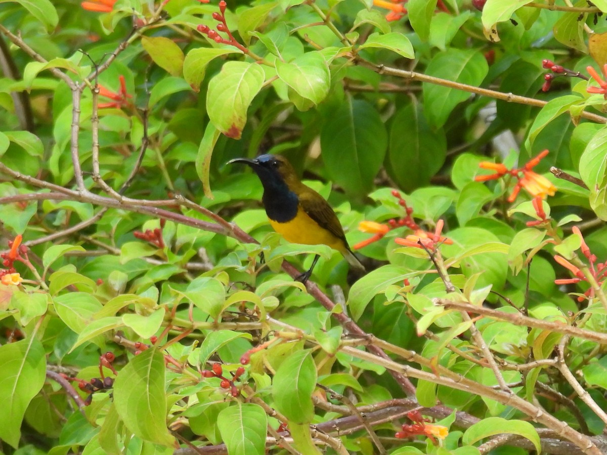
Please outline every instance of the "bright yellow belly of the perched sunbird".
[{"label": "bright yellow belly of the perched sunbird", "polygon": [[293,220],[286,223],[270,220],[274,231],[278,232],[282,237],[286,238],[291,243],[303,243],[306,245],[325,244],[337,251],[344,251],[345,245],[341,238],[336,237],[323,227],[320,227],[316,221],[299,210]]}]

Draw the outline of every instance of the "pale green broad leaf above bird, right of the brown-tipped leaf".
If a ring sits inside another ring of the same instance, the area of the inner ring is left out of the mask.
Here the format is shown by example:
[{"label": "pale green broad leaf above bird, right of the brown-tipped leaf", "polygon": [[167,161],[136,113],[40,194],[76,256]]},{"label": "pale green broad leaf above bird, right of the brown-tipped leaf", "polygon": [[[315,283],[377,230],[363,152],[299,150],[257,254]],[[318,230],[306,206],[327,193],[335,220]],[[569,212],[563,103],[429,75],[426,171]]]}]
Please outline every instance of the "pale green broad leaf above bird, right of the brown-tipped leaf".
[{"label": "pale green broad leaf above bird, right of the brown-tipped leaf", "polygon": [[331,75],[320,52],[306,52],[289,63],[276,61],[278,77],[300,96],[318,104],[329,93]]}]

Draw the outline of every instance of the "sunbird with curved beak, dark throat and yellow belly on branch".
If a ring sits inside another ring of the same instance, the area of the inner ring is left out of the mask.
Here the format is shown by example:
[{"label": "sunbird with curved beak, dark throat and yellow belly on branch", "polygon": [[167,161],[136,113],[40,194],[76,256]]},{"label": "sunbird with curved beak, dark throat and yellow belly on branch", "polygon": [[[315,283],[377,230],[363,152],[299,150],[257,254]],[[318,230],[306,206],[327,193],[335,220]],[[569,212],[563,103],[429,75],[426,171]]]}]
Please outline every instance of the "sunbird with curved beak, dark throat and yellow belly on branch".
[{"label": "sunbird with curved beak, dark throat and yellow belly on branch", "polygon": [[[365,271],[348,246],[344,229],[329,203],[299,181],[287,158],[265,154],[253,160],[235,158],[228,161],[228,164],[233,163],[247,164],[259,177],[263,186],[263,207],[274,231],[291,243],[328,245],[339,251],[352,268]],[[310,269],[299,275],[297,281],[304,284],[308,281],[319,257],[314,257]]]}]

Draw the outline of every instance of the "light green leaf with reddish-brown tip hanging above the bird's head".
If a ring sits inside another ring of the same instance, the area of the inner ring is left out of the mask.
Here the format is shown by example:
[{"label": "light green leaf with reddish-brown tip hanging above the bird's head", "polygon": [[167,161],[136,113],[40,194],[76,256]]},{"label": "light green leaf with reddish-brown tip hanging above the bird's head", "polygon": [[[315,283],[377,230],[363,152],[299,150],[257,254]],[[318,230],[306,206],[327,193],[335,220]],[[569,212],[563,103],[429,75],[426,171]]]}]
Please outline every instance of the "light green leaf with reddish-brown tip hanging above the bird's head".
[{"label": "light green leaf with reddish-brown tip hanging above the bird's head", "polygon": [[257,63],[226,62],[209,82],[206,111],[211,122],[229,138],[240,139],[246,111],[262,89],[265,73]]}]

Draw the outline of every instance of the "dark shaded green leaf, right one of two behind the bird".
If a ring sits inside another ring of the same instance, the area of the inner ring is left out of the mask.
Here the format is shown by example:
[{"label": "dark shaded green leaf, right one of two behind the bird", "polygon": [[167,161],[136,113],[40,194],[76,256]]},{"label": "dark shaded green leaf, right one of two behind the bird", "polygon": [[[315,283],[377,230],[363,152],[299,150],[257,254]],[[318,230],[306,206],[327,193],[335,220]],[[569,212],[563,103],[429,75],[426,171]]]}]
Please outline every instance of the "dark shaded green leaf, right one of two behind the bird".
[{"label": "dark shaded green leaf, right one of two behind the bird", "polygon": [[420,105],[407,103],[396,113],[390,127],[386,164],[399,187],[409,192],[429,184],[443,166],[446,153],[445,132],[430,129]]}]

